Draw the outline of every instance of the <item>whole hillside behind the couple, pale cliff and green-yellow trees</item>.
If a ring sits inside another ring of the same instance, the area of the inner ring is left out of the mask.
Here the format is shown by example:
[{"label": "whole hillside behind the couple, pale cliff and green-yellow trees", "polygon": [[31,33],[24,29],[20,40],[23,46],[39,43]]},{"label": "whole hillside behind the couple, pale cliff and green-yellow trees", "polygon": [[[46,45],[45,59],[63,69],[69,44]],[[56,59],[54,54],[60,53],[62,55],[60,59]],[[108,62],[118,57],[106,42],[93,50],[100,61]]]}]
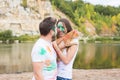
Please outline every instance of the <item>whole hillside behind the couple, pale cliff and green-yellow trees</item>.
[{"label": "whole hillside behind the couple, pale cliff and green-yellow trees", "polygon": [[0,0],[0,31],[13,35],[39,34],[38,25],[47,16],[67,18],[85,36],[119,36],[120,9],[94,6],[82,0]]}]

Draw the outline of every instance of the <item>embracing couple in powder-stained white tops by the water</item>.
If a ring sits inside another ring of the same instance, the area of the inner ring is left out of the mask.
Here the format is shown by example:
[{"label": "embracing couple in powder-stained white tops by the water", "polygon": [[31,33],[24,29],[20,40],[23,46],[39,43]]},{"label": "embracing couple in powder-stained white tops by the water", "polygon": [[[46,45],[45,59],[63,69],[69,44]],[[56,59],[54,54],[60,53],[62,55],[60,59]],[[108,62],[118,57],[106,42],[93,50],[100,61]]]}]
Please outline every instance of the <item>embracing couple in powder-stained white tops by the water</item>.
[{"label": "embracing couple in powder-stained white tops by the water", "polygon": [[57,21],[55,18],[47,17],[40,23],[39,31],[41,36],[34,44],[31,53],[34,74],[32,80],[72,80],[72,67],[78,51],[78,39],[72,40],[77,44],[64,47],[62,50],[56,41],[52,42],[55,32],[57,37],[61,38],[72,31],[69,21],[66,19]]}]

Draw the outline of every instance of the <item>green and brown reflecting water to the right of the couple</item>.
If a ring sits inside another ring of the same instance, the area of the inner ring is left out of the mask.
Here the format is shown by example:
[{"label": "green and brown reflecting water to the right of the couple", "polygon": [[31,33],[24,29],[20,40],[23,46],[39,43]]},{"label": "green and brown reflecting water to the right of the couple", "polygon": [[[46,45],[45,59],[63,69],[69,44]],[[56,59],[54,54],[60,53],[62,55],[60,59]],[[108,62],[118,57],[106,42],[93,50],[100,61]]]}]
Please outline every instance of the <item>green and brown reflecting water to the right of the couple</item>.
[{"label": "green and brown reflecting water to the right of the couple", "polygon": [[80,44],[74,68],[120,68],[120,44]]}]

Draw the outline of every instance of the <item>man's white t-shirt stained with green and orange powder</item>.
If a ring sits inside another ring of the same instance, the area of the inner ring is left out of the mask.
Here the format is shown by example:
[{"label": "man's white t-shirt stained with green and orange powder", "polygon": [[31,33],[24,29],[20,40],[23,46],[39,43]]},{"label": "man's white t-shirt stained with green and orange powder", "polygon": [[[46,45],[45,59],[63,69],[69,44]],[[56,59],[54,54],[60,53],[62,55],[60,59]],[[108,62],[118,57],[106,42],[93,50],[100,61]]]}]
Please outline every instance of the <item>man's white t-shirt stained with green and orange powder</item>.
[{"label": "man's white t-shirt stained with green and orange powder", "polygon": [[[40,38],[32,49],[31,57],[32,62],[44,62],[42,72],[44,80],[56,80],[57,56],[51,42]],[[32,80],[35,80],[34,76]]]}]

